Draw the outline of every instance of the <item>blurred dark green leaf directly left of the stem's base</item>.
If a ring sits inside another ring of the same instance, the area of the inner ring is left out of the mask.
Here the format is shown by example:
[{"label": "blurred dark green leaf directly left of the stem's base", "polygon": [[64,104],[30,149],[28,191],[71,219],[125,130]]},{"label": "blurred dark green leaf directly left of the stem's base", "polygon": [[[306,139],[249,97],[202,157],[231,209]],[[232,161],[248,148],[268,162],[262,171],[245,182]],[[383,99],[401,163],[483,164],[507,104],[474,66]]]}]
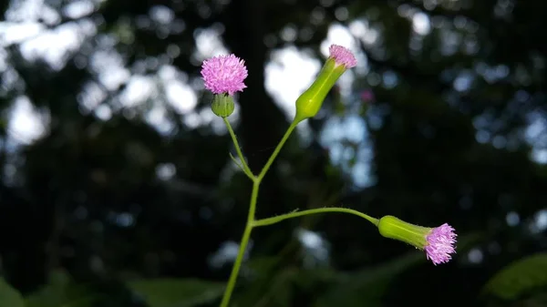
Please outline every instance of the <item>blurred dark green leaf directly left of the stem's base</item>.
[{"label": "blurred dark green leaf directly left of the stem's base", "polygon": [[193,279],[155,279],[127,282],[150,307],[191,307],[221,297],[224,284]]}]

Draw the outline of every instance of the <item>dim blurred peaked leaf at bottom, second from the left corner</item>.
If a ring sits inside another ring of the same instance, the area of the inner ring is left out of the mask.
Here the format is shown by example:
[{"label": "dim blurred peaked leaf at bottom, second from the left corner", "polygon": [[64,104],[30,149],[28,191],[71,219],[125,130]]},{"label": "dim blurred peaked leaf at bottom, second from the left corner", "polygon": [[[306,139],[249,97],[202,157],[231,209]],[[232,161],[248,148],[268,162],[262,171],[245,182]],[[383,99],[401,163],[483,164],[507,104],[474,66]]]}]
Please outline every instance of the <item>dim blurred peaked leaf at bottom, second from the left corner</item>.
[{"label": "dim blurred peaked leaf at bottom, second from the left corner", "polygon": [[89,307],[95,295],[73,283],[66,271],[49,274],[49,282],[39,291],[26,297],[26,307]]}]

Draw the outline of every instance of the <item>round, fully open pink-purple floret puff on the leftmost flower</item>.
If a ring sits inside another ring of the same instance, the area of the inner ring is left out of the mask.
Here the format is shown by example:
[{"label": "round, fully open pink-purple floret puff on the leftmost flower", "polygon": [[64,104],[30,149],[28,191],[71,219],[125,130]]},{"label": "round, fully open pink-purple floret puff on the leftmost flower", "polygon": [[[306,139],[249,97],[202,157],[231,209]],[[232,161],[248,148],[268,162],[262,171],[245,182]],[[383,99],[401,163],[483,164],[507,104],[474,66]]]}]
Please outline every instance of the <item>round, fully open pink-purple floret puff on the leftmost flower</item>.
[{"label": "round, fully open pink-purple floret puff on the leftmost flower", "polygon": [[245,62],[237,56],[214,56],[203,61],[201,77],[205,88],[213,94],[228,93],[232,96],[246,87],[243,81],[247,77],[247,67]]}]

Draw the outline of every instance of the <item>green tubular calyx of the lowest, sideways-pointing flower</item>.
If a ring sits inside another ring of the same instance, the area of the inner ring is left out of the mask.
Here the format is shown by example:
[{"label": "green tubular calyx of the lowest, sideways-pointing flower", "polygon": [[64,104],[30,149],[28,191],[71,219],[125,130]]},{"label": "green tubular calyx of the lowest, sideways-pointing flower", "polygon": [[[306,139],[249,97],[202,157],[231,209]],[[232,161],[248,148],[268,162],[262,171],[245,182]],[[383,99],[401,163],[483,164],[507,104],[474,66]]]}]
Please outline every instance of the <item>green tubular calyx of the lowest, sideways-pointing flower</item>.
[{"label": "green tubular calyx of the lowest, sideways-pointing flower", "polygon": [[380,219],[378,230],[382,236],[388,239],[406,242],[420,250],[428,245],[426,237],[431,231],[430,228],[413,225],[391,215]]}]

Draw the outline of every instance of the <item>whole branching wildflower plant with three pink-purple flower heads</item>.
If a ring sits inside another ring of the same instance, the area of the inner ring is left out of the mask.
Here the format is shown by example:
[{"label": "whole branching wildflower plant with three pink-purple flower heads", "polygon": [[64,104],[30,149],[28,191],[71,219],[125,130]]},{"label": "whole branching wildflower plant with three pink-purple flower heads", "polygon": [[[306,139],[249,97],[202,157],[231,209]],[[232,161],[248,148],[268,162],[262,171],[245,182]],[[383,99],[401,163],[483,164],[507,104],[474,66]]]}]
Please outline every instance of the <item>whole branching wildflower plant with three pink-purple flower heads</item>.
[{"label": "whole branching wildflower plant with three pink-purple flower heads", "polygon": [[244,61],[235,55],[215,56],[203,61],[201,66],[201,77],[205,84],[205,88],[210,90],[214,95],[212,98],[212,111],[223,119],[226,128],[228,128],[239,161],[232,157],[232,155],[231,158],[253,182],[247,222],[245,229],[243,230],[243,237],[240,242],[237,258],[233,264],[232,273],[228,280],[224,295],[222,296],[221,307],[227,307],[230,303],[232,291],[242,265],[243,256],[247,244],[249,243],[252,230],[256,227],[272,225],[282,220],[326,212],[348,213],[371,222],[377,227],[380,235],[388,239],[400,240],[414,246],[418,250],[425,251],[427,259],[432,261],[435,265],[450,261],[451,255],[456,252],[455,244],[457,235],[455,230],[446,223],[437,228],[427,228],[410,224],[389,215],[381,219],[376,219],[357,210],[339,207],[292,211],[260,220],[255,218],[254,212],[256,210],[260,184],[268,169],[270,169],[274,163],[281,148],[283,148],[285,141],[290,137],[294,128],[304,121],[304,119],[315,117],[319,112],[319,109],[321,109],[327,93],[335,86],[336,80],[342,76],[347,69],[356,67],[356,65],[356,57],[346,47],[337,45],[329,47],[329,56],[325,61],[324,67],[315,78],[314,83],[296,99],[296,112],[293,122],[289,128],[287,128],[283,138],[279,144],[277,144],[272,156],[267,160],[260,173],[253,174],[243,157],[243,152],[239,146],[235,133],[233,132],[230,121],[227,119],[234,109],[233,95],[236,92],[243,91],[246,87],[244,80],[248,76],[248,73]]}]

